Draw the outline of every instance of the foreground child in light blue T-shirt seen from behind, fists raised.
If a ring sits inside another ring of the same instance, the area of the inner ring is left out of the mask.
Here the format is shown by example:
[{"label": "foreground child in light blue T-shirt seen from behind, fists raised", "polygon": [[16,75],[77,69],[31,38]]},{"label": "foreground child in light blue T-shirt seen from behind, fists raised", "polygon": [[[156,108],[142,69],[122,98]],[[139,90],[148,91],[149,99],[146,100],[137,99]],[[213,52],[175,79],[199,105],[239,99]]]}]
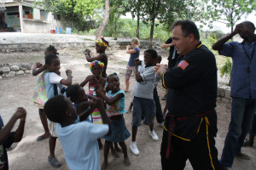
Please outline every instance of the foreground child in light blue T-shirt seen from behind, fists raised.
[{"label": "foreground child in light blue T-shirt seen from behind, fists raised", "polygon": [[90,109],[95,107],[100,111],[103,124],[93,124],[84,121],[87,113],[80,116],[70,99],[57,95],[44,105],[46,116],[51,122],[58,122],[56,133],[67,161],[67,166],[73,169],[100,170],[100,150],[96,139],[111,133],[108,116],[102,99],[89,96]]}]

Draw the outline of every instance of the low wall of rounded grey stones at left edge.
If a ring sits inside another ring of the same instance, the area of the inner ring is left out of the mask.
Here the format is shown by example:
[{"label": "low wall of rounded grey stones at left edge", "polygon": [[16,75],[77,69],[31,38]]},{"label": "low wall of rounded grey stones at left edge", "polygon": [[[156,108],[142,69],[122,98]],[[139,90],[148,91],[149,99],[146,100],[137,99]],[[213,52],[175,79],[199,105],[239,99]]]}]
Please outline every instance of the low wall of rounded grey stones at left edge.
[{"label": "low wall of rounded grey stones at left edge", "polygon": [[32,65],[21,63],[20,65],[14,64],[0,64],[0,71],[3,75],[0,75],[0,79],[2,77],[15,77],[18,75],[31,74],[32,73]]}]

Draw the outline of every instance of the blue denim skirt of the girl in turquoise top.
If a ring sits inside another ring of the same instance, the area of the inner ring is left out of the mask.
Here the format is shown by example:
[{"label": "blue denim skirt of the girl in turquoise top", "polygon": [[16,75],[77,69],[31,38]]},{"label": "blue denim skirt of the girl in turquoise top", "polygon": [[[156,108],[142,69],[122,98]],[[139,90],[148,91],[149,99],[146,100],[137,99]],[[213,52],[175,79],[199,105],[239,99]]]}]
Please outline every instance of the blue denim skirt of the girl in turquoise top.
[{"label": "blue denim skirt of the girl in turquoise top", "polygon": [[105,136],[103,139],[108,140],[110,142],[124,142],[131,136],[131,133],[127,130],[125,126],[125,119],[122,116],[118,120],[111,120],[110,119],[110,126],[111,126],[111,135]]}]

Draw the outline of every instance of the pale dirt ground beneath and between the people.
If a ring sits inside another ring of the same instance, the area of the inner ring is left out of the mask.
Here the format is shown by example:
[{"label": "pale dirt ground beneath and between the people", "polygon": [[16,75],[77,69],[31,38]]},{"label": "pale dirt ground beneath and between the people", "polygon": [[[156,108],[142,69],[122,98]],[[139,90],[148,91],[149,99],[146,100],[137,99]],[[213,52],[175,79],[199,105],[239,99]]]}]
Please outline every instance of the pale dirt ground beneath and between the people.
[{"label": "pale dirt ground beneath and between the people", "polygon": [[[65,75],[64,72],[67,69],[73,70],[73,82],[82,82],[87,75],[90,74],[89,66],[84,55],[83,49],[63,49],[59,51],[61,58],[61,75]],[[160,54],[164,57],[163,63],[167,63],[166,51],[160,51]],[[125,54],[125,50],[109,50],[107,52],[109,57],[108,74],[112,72],[119,73],[121,82],[121,89],[125,88],[125,76],[123,71],[125,65],[129,59],[129,54]],[[143,51],[141,58],[143,57]],[[27,52],[27,53],[13,53],[13,54],[0,54],[1,63],[44,63],[44,52]],[[65,76],[64,76],[65,77]],[[7,123],[10,117],[14,114],[17,107],[22,106],[26,108],[26,129],[24,137],[19,144],[14,144],[12,150],[9,150],[9,167],[10,169],[54,169],[49,166],[47,157],[49,155],[48,139],[43,141],[36,141],[36,138],[41,133],[44,133],[42,124],[38,116],[38,108],[32,103],[32,94],[38,82],[38,77],[32,77],[32,75],[23,75],[17,77],[4,77],[0,80],[0,114],[3,117],[3,122]],[[135,80],[131,77],[131,88],[133,87]],[[88,88],[84,88],[88,93]],[[164,95],[164,89],[159,86],[158,88],[160,98]],[[125,108],[128,109],[131,103],[131,92],[125,94]],[[164,101],[161,101],[162,107],[164,107]],[[216,144],[218,148],[218,156],[221,156],[224,138],[228,130],[230,123],[230,104],[217,103],[218,113],[218,136],[216,138]],[[131,132],[131,115],[125,114],[126,126]],[[16,123],[15,127],[17,127]],[[127,169],[127,170],[155,170],[160,169],[160,143],[163,128],[159,126],[157,122],[154,123],[154,130],[159,135],[159,141],[153,141],[148,135],[148,127],[142,125],[138,128],[137,133],[137,145],[140,150],[139,156],[131,154],[129,144],[131,139],[126,140],[128,146],[128,155],[131,160],[131,166],[124,166],[123,156],[119,153],[120,158],[114,159],[111,154],[108,157],[109,167],[108,169]],[[243,148],[242,151],[251,156],[248,161],[235,159],[233,169],[236,170],[252,170],[256,169],[256,147]],[[57,141],[55,156],[61,161],[61,167],[57,169],[68,169],[61,144]],[[101,162],[102,162],[102,150],[101,150]],[[185,168],[187,170],[192,169],[189,165]]]}]

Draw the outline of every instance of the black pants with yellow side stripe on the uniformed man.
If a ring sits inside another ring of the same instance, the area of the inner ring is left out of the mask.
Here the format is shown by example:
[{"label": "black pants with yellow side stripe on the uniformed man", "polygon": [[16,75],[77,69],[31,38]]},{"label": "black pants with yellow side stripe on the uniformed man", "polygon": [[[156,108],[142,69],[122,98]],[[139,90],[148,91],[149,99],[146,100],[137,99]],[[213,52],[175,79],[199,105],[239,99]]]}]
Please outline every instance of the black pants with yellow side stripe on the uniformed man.
[{"label": "black pants with yellow side stripe on the uniformed man", "polygon": [[218,150],[215,147],[215,134],[209,128],[208,126],[207,129],[207,123],[204,120],[194,139],[185,141],[172,136],[172,151],[168,158],[166,158],[168,135],[164,130],[160,152],[162,169],[182,170],[189,159],[195,170],[222,170],[223,167],[218,162]]}]

